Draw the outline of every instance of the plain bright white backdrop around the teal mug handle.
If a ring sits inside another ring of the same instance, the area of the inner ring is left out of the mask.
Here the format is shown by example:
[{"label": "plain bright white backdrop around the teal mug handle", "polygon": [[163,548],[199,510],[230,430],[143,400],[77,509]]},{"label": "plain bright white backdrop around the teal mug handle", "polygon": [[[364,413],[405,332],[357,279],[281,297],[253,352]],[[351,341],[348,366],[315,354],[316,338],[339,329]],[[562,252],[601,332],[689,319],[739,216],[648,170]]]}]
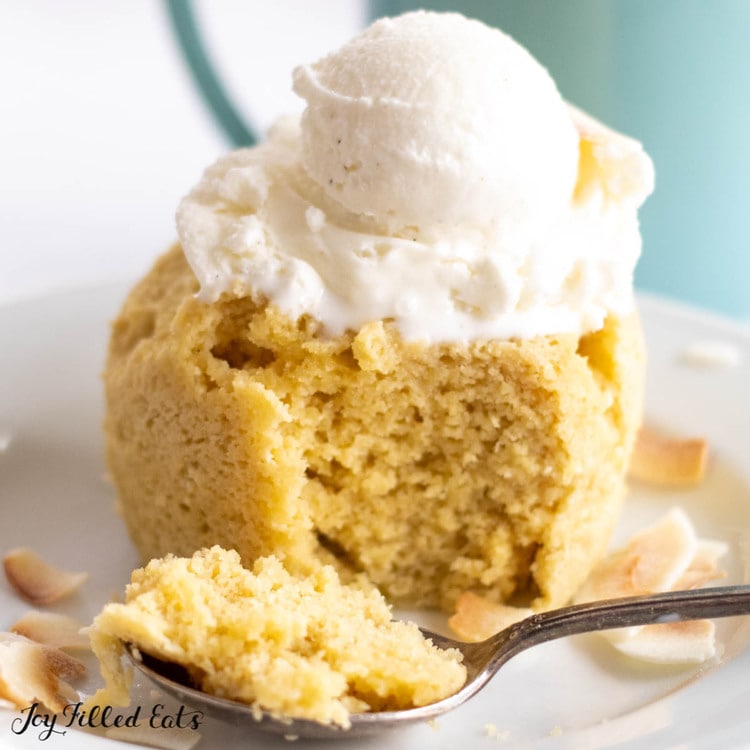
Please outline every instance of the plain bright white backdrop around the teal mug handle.
[{"label": "plain bright white backdrop around the teal mug handle", "polygon": [[[263,130],[299,106],[292,68],[365,23],[358,0],[195,7]],[[160,0],[2,0],[0,90],[0,302],[140,275],[173,241],[179,199],[230,148]]]}]

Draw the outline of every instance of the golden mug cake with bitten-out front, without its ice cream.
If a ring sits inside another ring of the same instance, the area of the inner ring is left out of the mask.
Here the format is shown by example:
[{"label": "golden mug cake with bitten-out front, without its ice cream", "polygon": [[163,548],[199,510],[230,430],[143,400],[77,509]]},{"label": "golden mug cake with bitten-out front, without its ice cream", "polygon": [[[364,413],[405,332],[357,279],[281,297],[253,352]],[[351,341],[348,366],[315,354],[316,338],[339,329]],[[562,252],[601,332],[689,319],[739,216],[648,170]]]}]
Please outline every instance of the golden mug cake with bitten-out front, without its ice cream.
[{"label": "golden mug cake with bitten-out front, without its ice cream", "polygon": [[113,328],[107,457],[144,559],[219,544],[334,561],[397,602],[543,609],[604,553],[641,415],[637,316],[427,345],[196,291],[175,247]]}]

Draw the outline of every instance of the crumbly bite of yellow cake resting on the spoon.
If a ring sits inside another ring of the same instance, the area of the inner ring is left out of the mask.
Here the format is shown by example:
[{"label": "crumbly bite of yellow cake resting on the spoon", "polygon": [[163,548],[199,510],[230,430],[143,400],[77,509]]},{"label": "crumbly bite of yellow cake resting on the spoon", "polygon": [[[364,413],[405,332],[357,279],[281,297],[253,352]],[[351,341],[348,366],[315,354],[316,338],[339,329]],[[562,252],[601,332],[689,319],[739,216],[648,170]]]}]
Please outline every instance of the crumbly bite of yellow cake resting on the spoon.
[{"label": "crumbly bite of yellow cake resting on the spoon", "polygon": [[167,556],[133,572],[123,603],[92,627],[107,687],[94,702],[127,701],[122,642],[183,665],[199,689],[283,718],[349,726],[349,715],[433,703],[466,669],[413,623],[391,620],[372,588],[331,566],[294,577],[278,558],[252,570],[220,547]]}]

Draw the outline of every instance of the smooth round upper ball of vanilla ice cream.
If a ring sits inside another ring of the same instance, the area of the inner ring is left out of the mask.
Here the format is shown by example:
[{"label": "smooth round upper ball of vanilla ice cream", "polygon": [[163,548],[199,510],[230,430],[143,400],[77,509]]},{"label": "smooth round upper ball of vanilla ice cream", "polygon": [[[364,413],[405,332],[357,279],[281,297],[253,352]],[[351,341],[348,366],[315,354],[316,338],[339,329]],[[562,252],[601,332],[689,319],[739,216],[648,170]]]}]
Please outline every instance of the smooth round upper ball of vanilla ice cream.
[{"label": "smooth round upper ball of vanilla ice cream", "polygon": [[578,136],[547,71],[497,29],[417,11],[294,73],[308,174],[388,231],[527,235],[570,200]]}]

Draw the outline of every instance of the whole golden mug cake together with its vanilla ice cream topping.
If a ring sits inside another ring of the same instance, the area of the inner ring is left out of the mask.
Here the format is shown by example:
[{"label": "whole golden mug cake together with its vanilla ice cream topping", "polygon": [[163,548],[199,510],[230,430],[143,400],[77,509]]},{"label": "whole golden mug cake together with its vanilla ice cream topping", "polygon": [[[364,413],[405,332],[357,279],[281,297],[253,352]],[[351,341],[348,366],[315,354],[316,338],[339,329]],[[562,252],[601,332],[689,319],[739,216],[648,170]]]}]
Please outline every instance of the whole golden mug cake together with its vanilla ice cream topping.
[{"label": "whole golden mug cake together with its vanilla ice cream topping", "polygon": [[391,601],[567,601],[640,424],[640,145],[502,32],[373,24],[211,166],[133,289],[107,460],[144,560],[221,545]]}]

